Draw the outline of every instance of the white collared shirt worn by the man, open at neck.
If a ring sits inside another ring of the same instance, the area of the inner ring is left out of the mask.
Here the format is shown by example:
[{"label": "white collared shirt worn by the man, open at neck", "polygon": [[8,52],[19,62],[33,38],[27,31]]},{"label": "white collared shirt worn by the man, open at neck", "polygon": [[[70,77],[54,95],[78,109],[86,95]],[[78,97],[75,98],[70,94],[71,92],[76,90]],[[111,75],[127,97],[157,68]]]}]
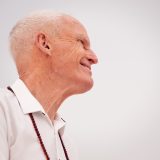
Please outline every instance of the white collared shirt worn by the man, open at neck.
[{"label": "white collared shirt worn by the man, open at neck", "polygon": [[29,117],[32,113],[50,160],[66,160],[58,136],[62,137],[70,160],[76,160],[68,141],[64,120],[56,114],[52,122],[22,80],[0,91],[0,160],[45,160]]}]

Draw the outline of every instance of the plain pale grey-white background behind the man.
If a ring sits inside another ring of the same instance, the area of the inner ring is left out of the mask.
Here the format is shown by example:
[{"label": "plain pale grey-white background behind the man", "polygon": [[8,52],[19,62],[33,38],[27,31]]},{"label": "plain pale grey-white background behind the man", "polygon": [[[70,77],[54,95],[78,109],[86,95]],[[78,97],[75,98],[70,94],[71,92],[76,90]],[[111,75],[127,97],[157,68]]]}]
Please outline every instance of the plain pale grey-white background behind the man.
[{"label": "plain pale grey-white background behind the man", "polygon": [[17,78],[9,31],[37,9],[79,19],[99,57],[94,88],[60,109],[80,160],[160,160],[160,1],[0,0],[0,87]]}]

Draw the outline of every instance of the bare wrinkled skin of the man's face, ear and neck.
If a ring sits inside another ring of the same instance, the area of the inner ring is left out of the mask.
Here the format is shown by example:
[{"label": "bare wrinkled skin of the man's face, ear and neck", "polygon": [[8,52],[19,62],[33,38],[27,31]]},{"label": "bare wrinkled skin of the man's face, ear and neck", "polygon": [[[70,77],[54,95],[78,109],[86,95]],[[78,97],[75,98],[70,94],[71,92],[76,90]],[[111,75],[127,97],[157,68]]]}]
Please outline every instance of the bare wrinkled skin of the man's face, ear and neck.
[{"label": "bare wrinkled skin of the man's face, ear and neck", "polygon": [[57,36],[39,31],[36,38],[27,70],[20,78],[54,119],[66,98],[92,88],[91,65],[98,59],[85,28],[73,18],[62,18]]}]

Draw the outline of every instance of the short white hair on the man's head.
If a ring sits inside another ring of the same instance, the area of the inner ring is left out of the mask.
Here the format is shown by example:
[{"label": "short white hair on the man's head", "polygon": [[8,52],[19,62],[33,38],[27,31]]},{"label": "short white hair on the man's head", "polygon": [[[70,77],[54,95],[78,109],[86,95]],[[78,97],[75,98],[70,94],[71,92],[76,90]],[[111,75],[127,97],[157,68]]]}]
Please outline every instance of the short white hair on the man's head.
[{"label": "short white hair on the man's head", "polygon": [[9,35],[10,50],[14,60],[16,61],[17,57],[32,50],[37,32],[49,32],[56,35],[59,22],[63,17],[71,16],[52,10],[40,10],[19,20]]}]

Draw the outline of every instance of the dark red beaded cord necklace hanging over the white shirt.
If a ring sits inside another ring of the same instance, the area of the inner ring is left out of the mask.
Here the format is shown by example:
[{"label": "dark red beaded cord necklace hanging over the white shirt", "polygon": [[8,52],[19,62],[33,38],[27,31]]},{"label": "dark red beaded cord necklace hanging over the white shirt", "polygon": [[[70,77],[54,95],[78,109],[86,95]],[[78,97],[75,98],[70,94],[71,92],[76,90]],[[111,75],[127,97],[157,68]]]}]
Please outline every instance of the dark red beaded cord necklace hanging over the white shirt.
[{"label": "dark red beaded cord necklace hanging over the white shirt", "polygon": [[[14,91],[12,90],[12,88],[11,88],[10,86],[8,86],[7,89],[10,90],[10,91],[15,95]],[[18,103],[19,103],[19,101],[18,101]],[[19,103],[19,105],[20,105],[20,103]],[[33,114],[32,114],[32,113],[29,113],[29,117],[30,117],[30,119],[31,119],[31,121],[32,121],[33,128],[34,128],[34,130],[35,130],[35,132],[36,132],[37,138],[38,138],[38,140],[39,140],[39,143],[40,143],[40,146],[41,146],[41,148],[42,148],[42,151],[43,151],[43,153],[44,153],[44,155],[45,155],[45,157],[46,157],[46,160],[50,160],[49,155],[48,155],[48,153],[47,153],[47,150],[46,150],[46,148],[45,148],[45,146],[44,146],[43,140],[42,140],[42,138],[41,138],[40,132],[39,132],[39,130],[38,130],[37,124],[36,124],[35,119],[34,119],[34,117],[33,117]],[[62,147],[63,147],[63,151],[64,151],[64,154],[65,154],[66,160],[69,160],[66,147],[65,147],[65,145],[64,145],[64,143],[63,143],[62,137],[61,137],[61,135],[60,135],[59,132],[58,132],[58,135],[59,135],[59,138],[60,138]]]}]

